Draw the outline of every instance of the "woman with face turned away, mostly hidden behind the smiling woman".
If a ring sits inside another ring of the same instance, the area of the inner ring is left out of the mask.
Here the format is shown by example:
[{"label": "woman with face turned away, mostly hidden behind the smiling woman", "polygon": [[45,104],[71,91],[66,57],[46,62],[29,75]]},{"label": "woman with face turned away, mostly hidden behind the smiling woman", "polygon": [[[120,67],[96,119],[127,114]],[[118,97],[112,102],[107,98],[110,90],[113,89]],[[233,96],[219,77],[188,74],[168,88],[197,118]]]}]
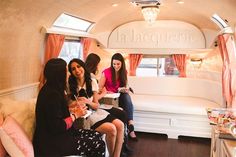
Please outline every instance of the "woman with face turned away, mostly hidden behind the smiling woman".
[{"label": "woman with face turned away, mostly hidden behind the smiling woman", "polygon": [[[87,70],[90,72],[91,77],[94,79],[96,79],[96,74],[98,73],[98,66],[99,66],[100,60],[101,58],[95,53],[90,53],[85,60],[85,66],[87,67]],[[102,92],[100,92],[98,94],[99,95],[98,99],[101,99],[102,97],[104,97],[106,93],[107,93],[106,90],[103,90]],[[127,115],[125,111],[112,107],[111,105],[101,105],[101,108],[104,108],[104,110],[109,112],[111,115],[120,119],[125,124],[125,128],[126,128],[128,119],[127,119]],[[123,144],[122,150],[129,154],[129,153],[132,153],[132,150],[131,148],[128,147],[127,143],[128,143],[128,138],[127,138],[127,134],[125,133],[124,144]]]}]

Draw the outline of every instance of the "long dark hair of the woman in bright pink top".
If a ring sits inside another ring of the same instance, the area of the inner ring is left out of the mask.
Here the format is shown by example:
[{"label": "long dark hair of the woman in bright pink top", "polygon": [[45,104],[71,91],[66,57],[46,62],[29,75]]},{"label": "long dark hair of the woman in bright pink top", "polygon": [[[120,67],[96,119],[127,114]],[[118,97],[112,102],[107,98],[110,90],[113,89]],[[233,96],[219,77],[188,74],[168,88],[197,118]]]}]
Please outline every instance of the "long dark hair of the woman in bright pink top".
[{"label": "long dark hair of the woman in bright pink top", "polygon": [[115,53],[111,58],[112,83],[116,85],[116,72],[115,72],[115,69],[113,68],[113,60],[118,60],[121,62],[121,68],[118,71],[119,79],[120,79],[120,86],[125,87],[127,84],[127,71],[125,67],[124,57],[120,53]]}]

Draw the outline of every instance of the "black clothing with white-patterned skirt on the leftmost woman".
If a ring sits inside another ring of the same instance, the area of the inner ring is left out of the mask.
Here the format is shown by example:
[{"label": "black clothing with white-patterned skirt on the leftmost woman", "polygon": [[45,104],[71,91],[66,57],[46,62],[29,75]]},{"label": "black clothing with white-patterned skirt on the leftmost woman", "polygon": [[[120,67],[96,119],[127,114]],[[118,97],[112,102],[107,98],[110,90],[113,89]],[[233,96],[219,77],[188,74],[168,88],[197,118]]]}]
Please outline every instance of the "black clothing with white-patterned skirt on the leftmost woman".
[{"label": "black clothing with white-patterned skirt on the leftmost woman", "polygon": [[69,117],[70,113],[64,95],[47,84],[39,92],[35,112],[35,156],[105,156],[105,143],[100,133],[66,128],[64,119]]}]

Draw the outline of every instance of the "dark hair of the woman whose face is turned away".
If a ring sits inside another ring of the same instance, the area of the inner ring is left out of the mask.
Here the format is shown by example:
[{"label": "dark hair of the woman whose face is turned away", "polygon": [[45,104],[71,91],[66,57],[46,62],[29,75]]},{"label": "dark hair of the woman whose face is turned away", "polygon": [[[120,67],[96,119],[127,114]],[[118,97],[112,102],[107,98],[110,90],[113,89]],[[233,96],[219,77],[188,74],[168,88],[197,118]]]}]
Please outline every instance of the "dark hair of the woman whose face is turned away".
[{"label": "dark hair of the woman whose face is turned away", "polygon": [[90,53],[85,60],[85,66],[90,73],[93,73],[95,75],[100,61],[101,58],[97,54]]}]

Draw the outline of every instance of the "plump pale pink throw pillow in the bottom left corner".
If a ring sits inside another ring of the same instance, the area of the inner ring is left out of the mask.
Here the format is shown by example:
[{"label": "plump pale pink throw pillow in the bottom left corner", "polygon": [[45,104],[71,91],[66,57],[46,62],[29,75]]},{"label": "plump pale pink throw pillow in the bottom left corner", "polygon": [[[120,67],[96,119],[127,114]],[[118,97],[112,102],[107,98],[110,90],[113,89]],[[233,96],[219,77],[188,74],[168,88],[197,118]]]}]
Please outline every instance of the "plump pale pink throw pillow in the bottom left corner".
[{"label": "plump pale pink throw pillow in the bottom left corner", "polygon": [[25,131],[11,116],[7,116],[0,128],[0,139],[11,157],[33,157],[33,145]]}]

